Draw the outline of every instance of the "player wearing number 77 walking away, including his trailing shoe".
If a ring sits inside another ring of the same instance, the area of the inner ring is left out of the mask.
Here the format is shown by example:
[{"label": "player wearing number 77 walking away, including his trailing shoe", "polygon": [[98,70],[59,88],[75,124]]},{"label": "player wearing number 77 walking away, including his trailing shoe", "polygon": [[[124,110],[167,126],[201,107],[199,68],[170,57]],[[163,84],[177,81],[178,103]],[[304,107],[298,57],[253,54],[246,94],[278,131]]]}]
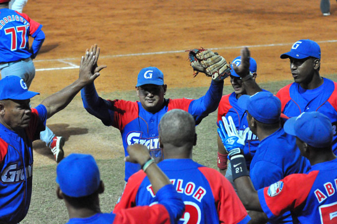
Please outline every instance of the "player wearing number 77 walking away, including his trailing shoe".
[{"label": "player wearing number 77 walking away, including his trailing shoe", "polygon": [[[1,78],[16,75],[23,79],[29,89],[35,76],[32,59],[38,55],[45,40],[45,33],[40,23],[25,13],[9,9],[8,1],[0,0]],[[28,43],[29,37],[33,38],[31,48]],[[40,133],[40,139],[52,150],[57,163],[63,159],[63,137],[55,136],[53,131],[46,126],[46,130]]]}]

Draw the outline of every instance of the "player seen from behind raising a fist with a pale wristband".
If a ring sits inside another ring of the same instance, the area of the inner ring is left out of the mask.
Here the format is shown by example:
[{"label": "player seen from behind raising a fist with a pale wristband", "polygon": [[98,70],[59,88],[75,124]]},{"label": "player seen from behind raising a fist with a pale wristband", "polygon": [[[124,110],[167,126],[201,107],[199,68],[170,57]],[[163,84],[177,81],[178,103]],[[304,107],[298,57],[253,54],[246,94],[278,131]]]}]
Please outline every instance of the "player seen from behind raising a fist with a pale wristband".
[{"label": "player seen from behind raising a fist with a pale wristband", "polygon": [[100,171],[91,155],[70,154],[56,168],[56,194],[65,201],[67,224],[175,224],[184,211],[181,196],[169,178],[151,159],[149,150],[139,144],[127,148],[129,162],[139,163],[150,179],[159,200],[158,205],[102,213],[99,194],[104,192]]}]

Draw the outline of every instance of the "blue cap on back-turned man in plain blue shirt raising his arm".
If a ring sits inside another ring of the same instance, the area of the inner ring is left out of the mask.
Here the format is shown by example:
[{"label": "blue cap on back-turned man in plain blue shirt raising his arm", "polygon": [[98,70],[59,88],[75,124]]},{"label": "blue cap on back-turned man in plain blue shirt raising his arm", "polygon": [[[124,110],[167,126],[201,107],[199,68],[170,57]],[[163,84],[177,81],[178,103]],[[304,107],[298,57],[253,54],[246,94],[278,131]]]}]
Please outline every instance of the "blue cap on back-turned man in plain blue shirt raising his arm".
[{"label": "blue cap on back-turned man in plain blue shirt raising his arm", "polygon": [[280,121],[281,101],[271,92],[257,92],[253,96],[242,95],[237,103],[262,123],[273,124]]}]

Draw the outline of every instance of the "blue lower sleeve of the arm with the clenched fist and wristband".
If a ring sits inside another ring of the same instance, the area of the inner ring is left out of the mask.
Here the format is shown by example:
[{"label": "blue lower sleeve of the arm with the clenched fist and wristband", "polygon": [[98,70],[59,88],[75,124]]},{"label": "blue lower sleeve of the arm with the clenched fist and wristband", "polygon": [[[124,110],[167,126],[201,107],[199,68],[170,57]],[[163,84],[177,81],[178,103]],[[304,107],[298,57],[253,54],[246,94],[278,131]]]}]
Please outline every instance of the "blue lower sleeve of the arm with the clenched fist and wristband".
[{"label": "blue lower sleeve of the arm with the clenched fist and wristband", "polygon": [[156,197],[158,202],[168,210],[171,224],[177,223],[184,212],[185,204],[173,185],[168,184],[162,187],[157,192]]}]

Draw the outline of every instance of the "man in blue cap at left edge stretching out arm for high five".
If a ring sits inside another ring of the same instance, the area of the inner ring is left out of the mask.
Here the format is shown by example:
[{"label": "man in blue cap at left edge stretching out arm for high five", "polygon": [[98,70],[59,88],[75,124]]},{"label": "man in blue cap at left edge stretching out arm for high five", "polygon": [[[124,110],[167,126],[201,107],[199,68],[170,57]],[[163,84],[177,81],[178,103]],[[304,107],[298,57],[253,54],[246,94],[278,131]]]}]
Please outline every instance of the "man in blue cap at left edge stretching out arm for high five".
[{"label": "man in blue cap at left edge stretching out arm for high five", "polygon": [[20,77],[0,80],[0,223],[17,224],[26,216],[32,194],[32,142],[39,139],[49,117],[99,76],[100,68],[91,72],[98,56],[99,51],[87,52],[81,59],[79,78],[33,109],[30,98],[39,93],[28,91]]}]

